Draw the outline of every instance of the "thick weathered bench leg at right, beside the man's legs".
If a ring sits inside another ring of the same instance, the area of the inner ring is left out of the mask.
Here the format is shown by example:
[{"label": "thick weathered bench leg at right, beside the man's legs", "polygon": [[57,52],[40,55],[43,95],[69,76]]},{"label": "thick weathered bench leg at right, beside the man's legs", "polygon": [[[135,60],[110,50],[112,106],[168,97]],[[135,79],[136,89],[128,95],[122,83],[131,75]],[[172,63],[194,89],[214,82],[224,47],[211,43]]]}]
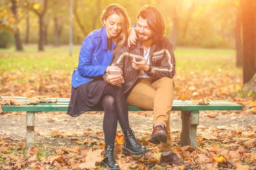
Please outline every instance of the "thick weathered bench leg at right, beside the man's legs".
[{"label": "thick weathered bench leg at right, beside the man's legs", "polygon": [[181,111],[181,120],[181,146],[191,145],[192,147],[198,147],[196,130],[199,124],[199,111]]}]

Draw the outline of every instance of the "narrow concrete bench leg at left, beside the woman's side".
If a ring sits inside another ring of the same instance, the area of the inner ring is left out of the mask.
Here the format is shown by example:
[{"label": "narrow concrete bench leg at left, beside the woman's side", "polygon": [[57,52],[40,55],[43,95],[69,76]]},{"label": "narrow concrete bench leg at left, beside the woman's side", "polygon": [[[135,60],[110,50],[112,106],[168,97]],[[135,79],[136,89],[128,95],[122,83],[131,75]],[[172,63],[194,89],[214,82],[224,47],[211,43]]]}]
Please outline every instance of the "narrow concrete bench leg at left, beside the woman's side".
[{"label": "narrow concrete bench leg at left, beside the woman's side", "polygon": [[26,149],[30,150],[35,142],[35,112],[27,112],[26,118]]}]

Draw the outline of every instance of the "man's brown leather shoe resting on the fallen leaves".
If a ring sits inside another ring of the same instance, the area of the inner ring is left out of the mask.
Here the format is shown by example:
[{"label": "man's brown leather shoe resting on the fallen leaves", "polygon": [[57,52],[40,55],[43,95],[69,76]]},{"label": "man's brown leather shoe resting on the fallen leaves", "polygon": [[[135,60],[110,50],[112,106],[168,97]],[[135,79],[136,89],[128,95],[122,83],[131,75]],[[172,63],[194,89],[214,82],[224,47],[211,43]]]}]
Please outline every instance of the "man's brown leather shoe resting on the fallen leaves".
[{"label": "man's brown leather shoe resting on the fallen leaves", "polygon": [[161,157],[160,157],[160,161],[166,162],[171,166],[172,166],[172,164],[175,164],[178,166],[180,164],[183,164],[185,166],[185,169],[190,168],[192,165],[190,162],[183,161],[183,159],[180,159],[180,157],[177,156],[177,153],[174,153],[173,151],[170,152],[169,155],[167,155],[167,156],[163,156],[163,153],[162,153]]}]

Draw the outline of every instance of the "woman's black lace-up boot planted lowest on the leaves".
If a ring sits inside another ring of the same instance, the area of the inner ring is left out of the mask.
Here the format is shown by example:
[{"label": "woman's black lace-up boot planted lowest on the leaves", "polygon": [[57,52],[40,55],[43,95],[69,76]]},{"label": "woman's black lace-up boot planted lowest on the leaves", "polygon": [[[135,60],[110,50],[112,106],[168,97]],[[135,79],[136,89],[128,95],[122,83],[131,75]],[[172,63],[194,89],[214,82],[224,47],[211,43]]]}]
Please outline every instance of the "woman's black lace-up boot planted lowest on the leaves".
[{"label": "woman's black lace-up boot planted lowest on the leaves", "polygon": [[105,164],[105,166],[107,166],[107,168],[110,170],[120,170],[120,167],[114,158],[114,148],[114,144],[105,145],[105,158],[102,160],[102,163]]}]

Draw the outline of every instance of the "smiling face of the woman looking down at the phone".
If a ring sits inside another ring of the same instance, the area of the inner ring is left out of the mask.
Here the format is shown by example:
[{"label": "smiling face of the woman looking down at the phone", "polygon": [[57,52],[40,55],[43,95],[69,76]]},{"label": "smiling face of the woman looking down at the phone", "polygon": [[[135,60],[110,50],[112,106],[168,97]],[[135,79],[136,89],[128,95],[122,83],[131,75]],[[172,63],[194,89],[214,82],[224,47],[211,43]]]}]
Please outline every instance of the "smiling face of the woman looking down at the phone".
[{"label": "smiling face of the woman looking down at the phone", "polygon": [[108,38],[115,37],[122,30],[121,17],[119,14],[112,14],[107,19],[103,20],[106,26],[106,32]]}]

